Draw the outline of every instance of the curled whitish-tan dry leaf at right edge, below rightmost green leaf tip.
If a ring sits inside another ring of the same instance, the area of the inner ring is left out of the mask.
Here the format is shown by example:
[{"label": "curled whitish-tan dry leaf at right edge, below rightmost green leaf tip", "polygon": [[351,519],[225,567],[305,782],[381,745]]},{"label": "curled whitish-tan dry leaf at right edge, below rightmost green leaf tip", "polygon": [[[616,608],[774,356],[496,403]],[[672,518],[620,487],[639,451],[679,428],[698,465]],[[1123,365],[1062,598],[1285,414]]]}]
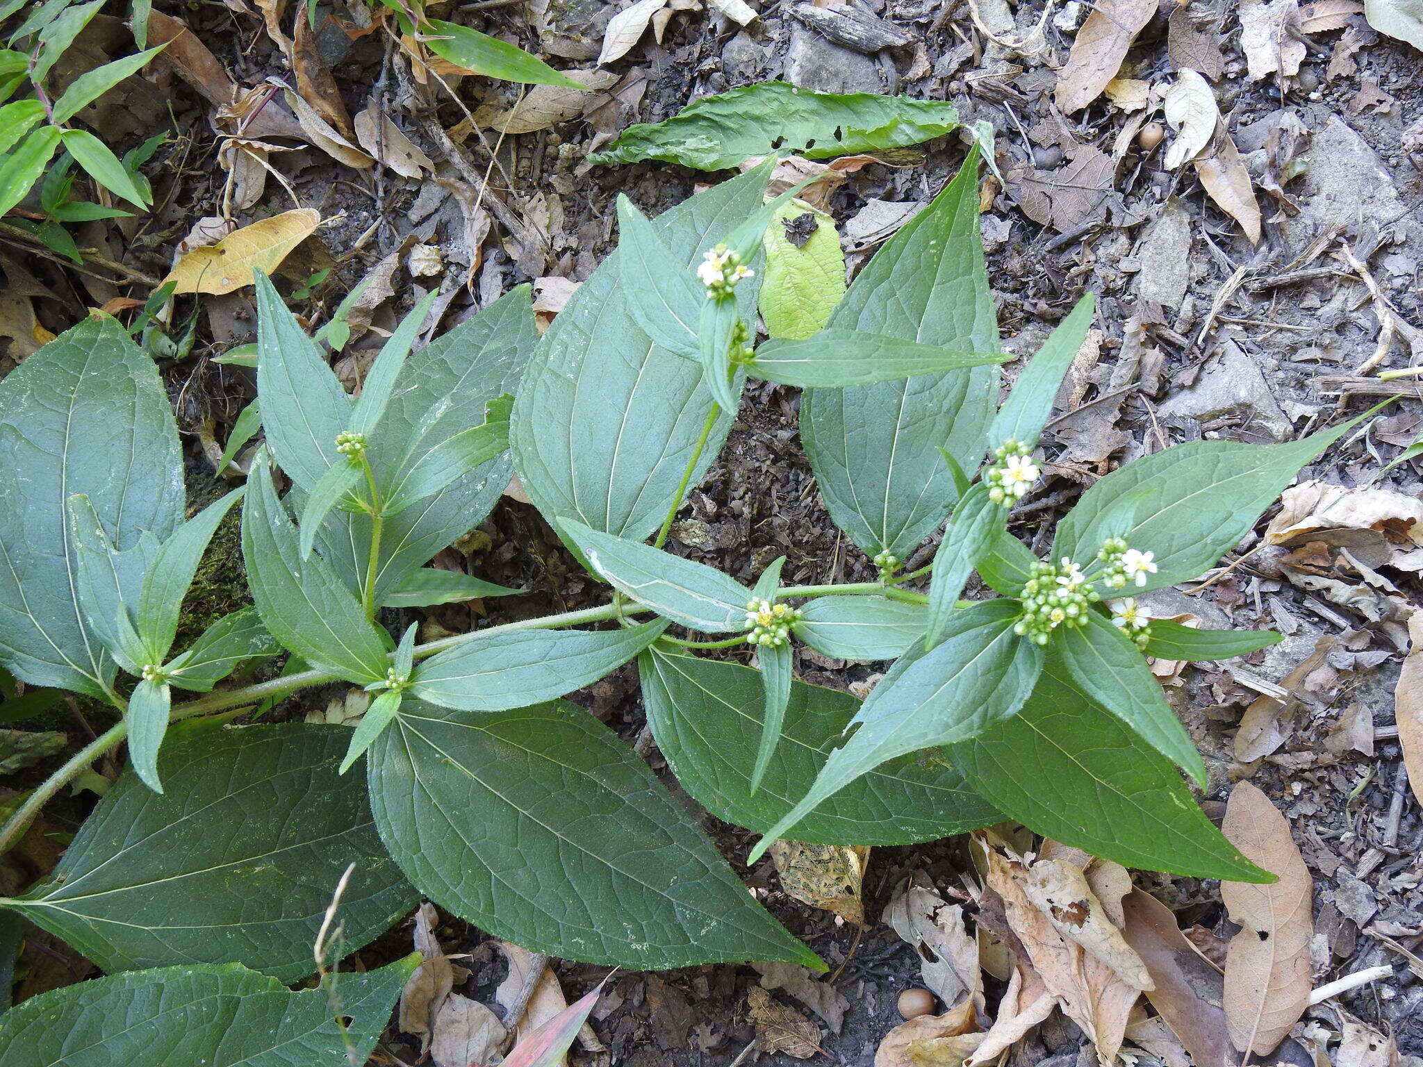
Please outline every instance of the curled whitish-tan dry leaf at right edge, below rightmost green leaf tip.
[{"label": "curled whitish-tan dry leaf at right edge, below rightmost green leaf tip", "polygon": [[1285,489],[1279,504],[1265,529],[1266,545],[1322,541],[1372,568],[1423,570],[1423,502],[1416,497],[1308,481]]}]

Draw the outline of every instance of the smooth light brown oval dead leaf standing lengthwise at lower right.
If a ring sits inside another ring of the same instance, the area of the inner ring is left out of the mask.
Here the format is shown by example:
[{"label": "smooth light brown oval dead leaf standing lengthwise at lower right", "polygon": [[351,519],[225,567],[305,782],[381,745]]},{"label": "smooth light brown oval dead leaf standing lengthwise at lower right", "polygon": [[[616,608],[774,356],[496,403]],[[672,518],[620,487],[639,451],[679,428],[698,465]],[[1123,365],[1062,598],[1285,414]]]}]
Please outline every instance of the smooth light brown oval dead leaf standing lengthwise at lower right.
[{"label": "smooth light brown oval dead leaf standing lengthwise at lower right", "polygon": [[1269,885],[1221,882],[1231,920],[1242,928],[1225,955],[1225,1021],[1239,1051],[1265,1056],[1309,1006],[1313,879],[1289,822],[1248,781],[1231,791],[1221,832],[1279,878]]}]

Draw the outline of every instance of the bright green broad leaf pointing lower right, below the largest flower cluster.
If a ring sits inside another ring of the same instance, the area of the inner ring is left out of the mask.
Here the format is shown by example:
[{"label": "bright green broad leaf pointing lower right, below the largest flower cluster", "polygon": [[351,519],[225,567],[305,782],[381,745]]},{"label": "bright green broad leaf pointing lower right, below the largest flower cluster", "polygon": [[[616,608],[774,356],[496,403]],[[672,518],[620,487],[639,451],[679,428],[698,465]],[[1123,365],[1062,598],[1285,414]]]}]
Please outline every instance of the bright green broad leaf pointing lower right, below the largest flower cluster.
[{"label": "bright green broad leaf pointing lower right, below the largest flower cluster", "polygon": [[1168,760],[1077,691],[1049,657],[1023,708],[948,757],[1029,829],[1146,871],[1261,881]]}]

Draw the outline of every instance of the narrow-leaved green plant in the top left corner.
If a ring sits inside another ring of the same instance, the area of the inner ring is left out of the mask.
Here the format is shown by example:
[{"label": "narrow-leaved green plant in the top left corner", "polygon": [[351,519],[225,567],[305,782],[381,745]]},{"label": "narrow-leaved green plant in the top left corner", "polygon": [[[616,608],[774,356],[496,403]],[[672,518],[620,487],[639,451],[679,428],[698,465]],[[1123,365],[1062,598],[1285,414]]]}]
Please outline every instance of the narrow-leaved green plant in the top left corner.
[{"label": "narrow-leaved green plant in the top left corner", "polygon": [[[30,91],[28,97],[0,107],[0,215],[24,199],[46,174],[54,154],[63,149],[67,161],[54,168],[46,181],[44,216],[37,229],[50,248],[71,258],[77,256],[73,239],[53,223],[111,218],[124,212],[95,203],[70,203],[68,161],[78,164],[80,169],[115,196],[147,208],[152,203],[152,191],[138,174],[138,165],[161,144],[148,142],[147,151],[139,148],[120,159],[94,134],[68,122],[87,104],[138,71],[162,46],[80,74],[58,98],[50,92],[48,78],[54,64],[102,6],[104,0],[43,0],[30,4],[20,26],[9,34],[10,47],[0,50],[0,100],[10,100],[26,87]],[[24,7],[26,0],[4,0],[0,3],[0,20]]]}]

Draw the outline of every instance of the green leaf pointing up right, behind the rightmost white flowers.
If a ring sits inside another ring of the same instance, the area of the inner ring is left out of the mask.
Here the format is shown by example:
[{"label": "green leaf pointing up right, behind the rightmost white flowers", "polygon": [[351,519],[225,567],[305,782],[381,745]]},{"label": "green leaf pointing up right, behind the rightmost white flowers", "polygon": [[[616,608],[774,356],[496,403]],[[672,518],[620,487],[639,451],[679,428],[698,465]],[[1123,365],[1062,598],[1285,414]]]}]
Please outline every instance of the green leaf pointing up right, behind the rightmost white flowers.
[{"label": "green leaf pointing up right, behind the rightmost white flowers", "polygon": [[1090,558],[1099,545],[1084,536],[1117,498],[1155,488],[1126,534],[1131,548],[1155,553],[1157,573],[1146,589],[1198,578],[1251,532],[1259,514],[1299,469],[1339,440],[1358,420],[1276,445],[1191,441],[1121,467],[1081,495],[1057,526],[1053,556]]}]

